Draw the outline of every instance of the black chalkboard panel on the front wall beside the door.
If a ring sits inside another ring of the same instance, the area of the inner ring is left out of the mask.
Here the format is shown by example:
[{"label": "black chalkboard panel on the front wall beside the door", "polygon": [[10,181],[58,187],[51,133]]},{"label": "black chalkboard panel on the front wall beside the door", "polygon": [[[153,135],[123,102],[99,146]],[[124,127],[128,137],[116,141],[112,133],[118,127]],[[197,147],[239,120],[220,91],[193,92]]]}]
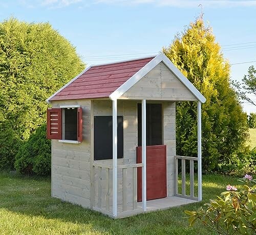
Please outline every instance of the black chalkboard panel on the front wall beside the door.
[{"label": "black chalkboard panel on the front wall beside the door", "polygon": [[[113,158],[112,116],[94,116],[94,160]],[[123,158],[123,116],[117,116],[117,158]]]}]

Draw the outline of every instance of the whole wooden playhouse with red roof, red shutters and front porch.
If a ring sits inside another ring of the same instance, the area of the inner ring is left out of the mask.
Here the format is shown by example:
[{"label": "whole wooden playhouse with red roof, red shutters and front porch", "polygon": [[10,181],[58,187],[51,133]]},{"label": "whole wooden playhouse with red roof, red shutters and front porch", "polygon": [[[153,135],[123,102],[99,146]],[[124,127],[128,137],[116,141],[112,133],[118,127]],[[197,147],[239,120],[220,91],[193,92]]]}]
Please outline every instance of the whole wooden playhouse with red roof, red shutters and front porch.
[{"label": "whole wooden playhouse with red roof, red shutters and front porch", "polygon": [[[176,156],[176,101],[198,104],[197,158]],[[205,98],[164,54],[90,66],[47,102],[52,105],[47,111],[52,197],[113,218],[202,199]]]}]

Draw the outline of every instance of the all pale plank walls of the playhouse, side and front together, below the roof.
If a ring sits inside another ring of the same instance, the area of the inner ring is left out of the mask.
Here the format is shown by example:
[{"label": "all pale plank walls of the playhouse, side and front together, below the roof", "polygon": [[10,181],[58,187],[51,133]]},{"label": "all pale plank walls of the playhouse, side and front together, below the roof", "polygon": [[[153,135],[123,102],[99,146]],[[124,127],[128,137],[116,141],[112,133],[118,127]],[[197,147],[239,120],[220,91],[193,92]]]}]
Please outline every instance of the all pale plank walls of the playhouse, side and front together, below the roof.
[{"label": "all pale plank walls of the playhouse, side and front together, below the roof", "polygon": [[[118,115],[123,116],[124,135],[124,157],[118,159],[118,165],[136,163],[136,147],[138,140],[137,103],[135,100],[118,100]],[[150,101],[148,101],[150,102]],[[167,197],[174,195],[174,156],[175,148],[175,102],[155,101],[163,105],[163,144],[167,146]],[[93,116],[112,115],[112,101],[110,100],[67,100],[53,101],[53,108],[60,105],[82,106],[83,112],[83,141],[80,144],[62,143],[58,140],[52,141],[52,196],[65,201],[80,204],[84,207],[91,207],[91,203],[99,202],[99,185],[91,182],[91,165],[93,162],[100,162],[112,165],[112,160],[93,160]],[[92,109],[92,113],[91,113]],[[105,193],[107,190],[107,172],[102,168],[102,187],[100,190]],[[133,203],[133,169],[128,168],[126,173],[127,196],[126,201]],[[95,170],[94,177],[99,176],[99,170]],[[112,188],[112,170],[110,170],[110,186]],[[118,169],[118,204],[122,205],[122,169]],[[91,201],[91,188],[96,189]],[[112,205],[112,191],[110,191],[110,205]],[[93,206],[93,205],[92,205]],[[105,206],[105,205],[102,205]]]}]

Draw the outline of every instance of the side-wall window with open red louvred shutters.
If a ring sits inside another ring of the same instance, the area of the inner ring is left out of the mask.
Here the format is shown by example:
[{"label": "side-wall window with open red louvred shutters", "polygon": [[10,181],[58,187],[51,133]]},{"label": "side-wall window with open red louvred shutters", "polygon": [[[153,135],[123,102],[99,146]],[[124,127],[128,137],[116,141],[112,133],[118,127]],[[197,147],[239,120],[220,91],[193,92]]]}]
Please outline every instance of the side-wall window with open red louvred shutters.
[{"label": "side-wall window with open red louvred shutters", "polygon": [[71,105],[48,109],[47,138],[82,142],[82,108]]}]

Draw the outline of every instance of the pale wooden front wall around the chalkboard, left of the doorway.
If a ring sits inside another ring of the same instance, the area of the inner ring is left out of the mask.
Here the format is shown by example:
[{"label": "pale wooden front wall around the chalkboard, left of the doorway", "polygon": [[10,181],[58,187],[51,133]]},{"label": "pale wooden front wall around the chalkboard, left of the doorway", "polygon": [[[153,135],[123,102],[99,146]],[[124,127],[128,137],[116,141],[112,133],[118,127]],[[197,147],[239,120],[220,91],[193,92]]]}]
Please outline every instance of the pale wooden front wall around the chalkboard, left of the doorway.
[{"label": "pale wooden front wall around the chalkboard, left of the doorway", "polygon": [[[93,101],[93,116],[112,116],[112,101],[111,100],[94,100]],[[123,158],[117,159],[118,165],[123,164],[135,164],[136,163],[136,147],[137,147],[137,102],[136,101],[122,101],[118,100],[117,102],[117,115],[123,116]],[[93,126],[93,124],[92,124]],[[112,159],[109,160],[97,160],[93,161],[95,163],[103,163],[112,165]],[[132,196],[132,168],[127,168],[127,178],[126,184],[127,187],[127,203],[133,202]],[[99,169],[95,170],[95,179],[98,178],[98,174],[100,174]],[[112,170],[110,171],[110,186],[112,189]],[[102,168],[101,170],[102,181],[106,182],[106,170]],[[92,176],[93,177],[93,176]],[[117,172],[117,202],[119,205],[122,204],[122,169],[118,169]],[[106,192],[106,184],[103,183],[101,187],[101,191],[103,193]],[[94,185],[95,189],[98,189],[98,184]],[[96,191],[96,195],[94,197],[95,204],[98,203],[98,190]],[[112,190],[110,191],[110,206],[112,205]],[[102,205],[105,206],[105,205]]]}]

